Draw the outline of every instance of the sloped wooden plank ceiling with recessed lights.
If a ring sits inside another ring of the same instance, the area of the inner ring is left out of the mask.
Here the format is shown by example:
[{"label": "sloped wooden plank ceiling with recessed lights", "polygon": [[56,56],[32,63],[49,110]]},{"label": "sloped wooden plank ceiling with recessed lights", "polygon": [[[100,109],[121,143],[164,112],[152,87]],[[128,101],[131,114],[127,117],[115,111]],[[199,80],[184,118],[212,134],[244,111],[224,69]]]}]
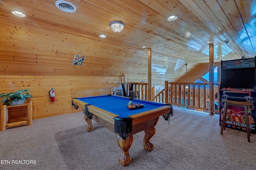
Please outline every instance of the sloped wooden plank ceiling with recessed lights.
[{"label": "sloped wooden plank ceiling with recessed lights", "polygon": [[[185,63],[188,72],[208,63],[206,41],[215,62],[256,56],[256,0],[68,0],[73,13],[55,2],[0,0],[0,74],[147,82],[151,48],[152,85],[163,85],[185,76]],[[125,23],[120,33],[110,28],[115,20]],[[72,65],[74,55],[86,56],[82,66]]]}]

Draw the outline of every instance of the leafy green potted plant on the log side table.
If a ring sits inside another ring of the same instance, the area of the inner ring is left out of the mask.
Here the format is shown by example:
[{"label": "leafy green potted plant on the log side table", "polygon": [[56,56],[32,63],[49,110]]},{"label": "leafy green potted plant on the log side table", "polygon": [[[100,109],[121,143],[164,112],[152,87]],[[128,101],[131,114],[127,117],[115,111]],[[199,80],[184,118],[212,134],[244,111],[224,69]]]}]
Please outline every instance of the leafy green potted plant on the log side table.
[{"label": "leafy green potted plant on the log side table", "polygon": [[[1,103],[5,104],[5,105],[16,105],[16,104],[22,104],[24,103],[24,101],[28,98],[33,98],[33,96],[31,94],[29,94],[29,88],[27,90],[23,89],[23,90],[18,90],[16,92],[11,92],[11,93],[2,93],[0,94],[0,99],[3,98],[1,100]],[[19,101],[19,102],[18,102]],[[22,102],[21,102],[22,101]],[[18,102],[15,104],[15,102]]]}]

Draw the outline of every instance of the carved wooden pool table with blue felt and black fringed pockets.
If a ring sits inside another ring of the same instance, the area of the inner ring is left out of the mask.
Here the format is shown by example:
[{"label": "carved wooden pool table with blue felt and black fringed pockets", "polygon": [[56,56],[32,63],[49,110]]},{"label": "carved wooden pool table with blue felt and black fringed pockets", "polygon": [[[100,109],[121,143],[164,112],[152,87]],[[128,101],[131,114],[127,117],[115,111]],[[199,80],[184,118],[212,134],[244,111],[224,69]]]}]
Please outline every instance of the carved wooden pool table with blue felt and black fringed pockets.
[{"label": "carved wooden pool table with blue felt and black fringed pockets", "polygon": [[[129,101],[144,106],[128,108]],[[129,149],[133,142],[132,135],[144,131],[144,149],[151,151],[154,145],[149,140],[156,133],[155,125],[158,118],[163,115],[166,120],[169,120],[170,115],[173,114],[170,104],[116,95],[74,98],[72,106],[76,109],[82,107],[84,119],[88,123],[87,132],[93,131],[92,119],[94,119],[117,134],[117,143],[122,149],[118,160],[123,166],[131,162]]]}]

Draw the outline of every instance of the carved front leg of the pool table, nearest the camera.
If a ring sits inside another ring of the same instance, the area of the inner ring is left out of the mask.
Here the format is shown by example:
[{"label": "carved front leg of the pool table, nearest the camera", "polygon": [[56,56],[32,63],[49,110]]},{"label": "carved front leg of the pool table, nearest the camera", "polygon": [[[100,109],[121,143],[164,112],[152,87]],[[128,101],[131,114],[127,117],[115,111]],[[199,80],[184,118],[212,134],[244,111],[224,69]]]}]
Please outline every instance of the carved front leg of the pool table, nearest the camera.
[{"label": "carved front leg of the pool table, nearest the camera", "polygon": [[122,152],[119,154],[119,162],[122,166],[126,166],[131,162],[131,156],[129,154],[129,149],[133,142],[133,136],[126,137],[126,139],[122,139],[119,135],[117,136],[118,139],[117,144],[122,149]]}]

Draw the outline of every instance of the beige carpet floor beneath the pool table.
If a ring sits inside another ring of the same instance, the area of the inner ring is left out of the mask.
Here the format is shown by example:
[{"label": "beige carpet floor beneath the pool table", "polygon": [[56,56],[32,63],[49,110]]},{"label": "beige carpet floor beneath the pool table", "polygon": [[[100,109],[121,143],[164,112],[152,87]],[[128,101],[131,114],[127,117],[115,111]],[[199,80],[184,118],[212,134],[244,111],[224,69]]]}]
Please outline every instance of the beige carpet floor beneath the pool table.
[{"label": "beige carpet floor beneath the pool table", "polygon": [[256,169],[256,135],[251,143],[245,132],[226,128],[220,135],[218,115],[174,107],[170,125],[160,117],[151,152],[143,148],[144,132],[134,135],[126,167],[118,162],[116,134],[96,122],[90,133],[86,126],[79,112],[0,132],[0,170]]}]

